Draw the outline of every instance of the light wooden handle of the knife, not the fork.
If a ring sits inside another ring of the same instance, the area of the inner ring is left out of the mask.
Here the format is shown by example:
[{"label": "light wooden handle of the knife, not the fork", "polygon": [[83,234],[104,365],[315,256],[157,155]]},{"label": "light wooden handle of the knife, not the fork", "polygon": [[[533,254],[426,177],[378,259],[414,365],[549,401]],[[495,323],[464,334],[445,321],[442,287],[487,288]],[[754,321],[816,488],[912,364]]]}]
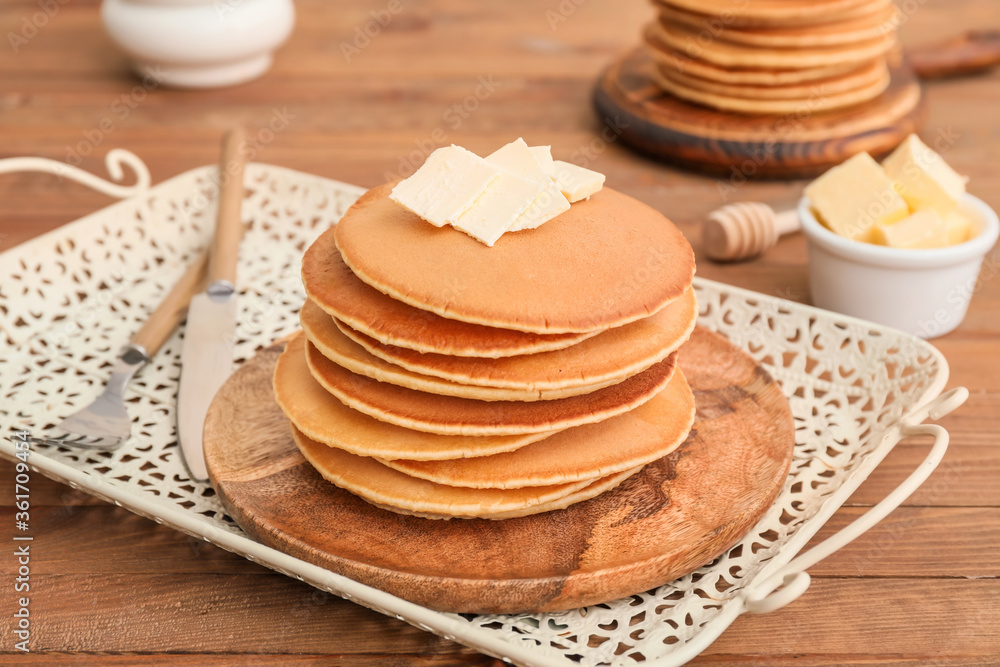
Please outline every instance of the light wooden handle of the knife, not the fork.
[{"label": "light wooden handle of the knife, not the fork", "polygon": [[236,262],[240,255],[243,222],[243,168],[246,166],[246,130],[236,127],[222,140],[219,160],[219,214],[215,220],[208,261],[208,281],[228,280],[236,283]]}]

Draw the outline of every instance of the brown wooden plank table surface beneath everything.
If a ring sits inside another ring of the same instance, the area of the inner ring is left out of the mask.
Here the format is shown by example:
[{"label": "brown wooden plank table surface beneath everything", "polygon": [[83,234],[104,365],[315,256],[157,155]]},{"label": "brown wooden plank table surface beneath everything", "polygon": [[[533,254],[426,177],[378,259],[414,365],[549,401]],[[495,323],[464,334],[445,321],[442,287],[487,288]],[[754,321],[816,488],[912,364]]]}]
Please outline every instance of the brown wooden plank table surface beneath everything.
[{"label": "brown wooden plank table surface beneath everything", "polygon": [[[607,174],[690,238],[725,201],[783,206],[800,182],[735,190],[599,139],[590,107],[601,68],[637,42],[643,0],[403,0],[391,22],[348,61],[342,44],[385,0],[300,0],[298,23],[273,70],[247,85],[201,92],[143,90],[101,29],[97,0],[0,1],[0,34],[22,34],[0,56],[0,157],[40,155],[103,174],[128,148],[159,182],[214,163],[235,122],[286,127],[256,160],[372,186],[411,153],[454,142],[479,153],[523,136]],[[905,44],[1000,27],[992,1],[906,3]],[[30,32],[30,31],[29,31]],[[37,33],[37,34],[35,34]],[[28,34],[28,33],[23,33]],[[952,137],[948,161],[969,189],[1000,208],[1000,72],[927,86],[924,136]],[[103,128],[103,129],[102,129]],[[102,208],[110,200],[55,177],[0,177],[0,250]],[[987,258],[972,307],[935,345],[950,386],[971,397],[942,420],[952,444],[903,507],[812,570],[787,608],[743,616],[693,664],[1000,664],[1000,252]],[[805,244],[786,238],[761,259],[701,276],[808,302]],[[904,442],[820,537],[877,502],[923,458]],[[0,540],[14,524],[14,475],[0,465]],[[52,664],[485,665],[495,661],[54,482],[35,477],[31,654],[14,649],[13,549],[2,558],[0,662]]]}]

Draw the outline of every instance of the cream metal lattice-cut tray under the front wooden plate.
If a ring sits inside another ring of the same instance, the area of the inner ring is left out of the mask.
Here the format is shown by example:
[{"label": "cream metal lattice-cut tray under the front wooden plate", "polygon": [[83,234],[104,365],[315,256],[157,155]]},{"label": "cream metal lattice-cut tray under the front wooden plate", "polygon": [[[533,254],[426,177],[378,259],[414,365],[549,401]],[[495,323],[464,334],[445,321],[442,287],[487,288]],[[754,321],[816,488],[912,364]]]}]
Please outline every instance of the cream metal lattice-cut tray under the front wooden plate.
[{"label": "cream metal lattice-cut tray under the front wooden plate", "polygon": [[[195,169],[0,255],[0,430],[41,435],[100,393],[117,350],[207,242],[215,175],[214,167]],[[237,364],[297,328],[305,298],[299,258],[362,192],[263,164],[249,165],[246,181],[243,215],[252,226],[240,257]],[[30,462],[74,488],[510,662],[682,664],[740,613],[801,594],[802,570],[856,535],[847,531],[789,561],[901,437],[929,433],[936,444],[924,470],[853,532],[912,492],[947,446],[940,427],[916,424],[964,400],[964,390],[939,396],[947,364],[921,340],[706,280],[695,287],[700,324],[749,350],[789,396],[795,458],[774,506],[736,547],[626,600],[551,614],[442,614],[251,541],[211,487],[188,478],[180,458],[174,411],[183,330],[129,387],[133,436],[124,446],[35,446]],[[0,453],[13,451],[0,441]]]}]

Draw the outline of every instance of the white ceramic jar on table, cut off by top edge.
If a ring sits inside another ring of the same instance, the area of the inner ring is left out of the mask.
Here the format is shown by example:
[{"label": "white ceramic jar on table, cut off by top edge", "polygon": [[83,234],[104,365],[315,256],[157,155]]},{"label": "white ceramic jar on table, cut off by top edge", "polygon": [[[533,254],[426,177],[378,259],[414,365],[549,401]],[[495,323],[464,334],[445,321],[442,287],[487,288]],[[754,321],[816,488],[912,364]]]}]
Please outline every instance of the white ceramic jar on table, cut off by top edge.
[{"label": "white ceramic jar on table, cut off by top edge", "polygon": [[295,8],[292,0],[104,0],[101,16],[144,80],[210,88],[266,72]]}]

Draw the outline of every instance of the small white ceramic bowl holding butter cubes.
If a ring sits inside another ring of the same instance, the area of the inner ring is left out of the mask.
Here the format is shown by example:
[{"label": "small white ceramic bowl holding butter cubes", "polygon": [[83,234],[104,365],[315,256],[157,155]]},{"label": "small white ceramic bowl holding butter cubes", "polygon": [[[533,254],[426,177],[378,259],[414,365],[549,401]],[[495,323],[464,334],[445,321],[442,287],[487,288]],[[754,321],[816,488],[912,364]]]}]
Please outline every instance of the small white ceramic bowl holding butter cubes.
[{"label": "small white ceramic bowl holding butter cubes", "polygon": [[[816,220],[803,197],[799,219],[809,240],[813,303],[921,338],[948,333],[965,317],[983,258],[1000,235],[996,212],[981,199],[967,194],[961,207],[973,221],[968,241],[901,250],[834,234]],[[983,279],[996,277],[1000,267],[989,268]]]}]

